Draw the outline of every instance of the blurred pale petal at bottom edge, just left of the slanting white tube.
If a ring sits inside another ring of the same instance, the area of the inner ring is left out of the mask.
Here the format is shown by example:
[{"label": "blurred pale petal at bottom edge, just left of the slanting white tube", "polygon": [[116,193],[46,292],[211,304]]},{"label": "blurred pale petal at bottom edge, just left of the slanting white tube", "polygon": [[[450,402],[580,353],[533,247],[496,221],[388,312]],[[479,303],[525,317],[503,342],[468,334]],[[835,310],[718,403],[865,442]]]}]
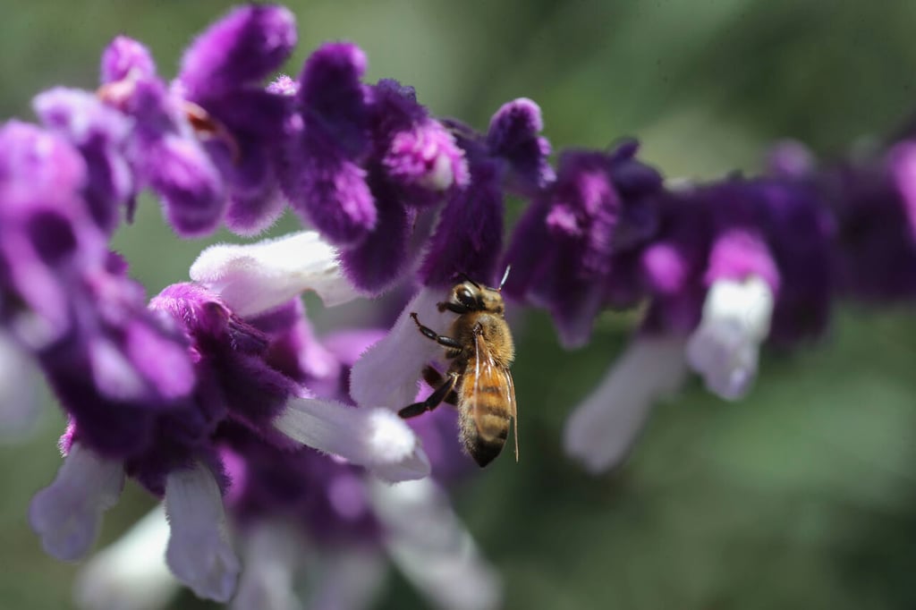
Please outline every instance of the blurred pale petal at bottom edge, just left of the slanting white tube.
[{"label": "blurred pale petal at bottom edge, just left of the slanting white tube", "polygon": [[362,610],[375,607],[387,575],[387,562],[375,550],[334,548],[322,553],[310,580],[309,610]]}]

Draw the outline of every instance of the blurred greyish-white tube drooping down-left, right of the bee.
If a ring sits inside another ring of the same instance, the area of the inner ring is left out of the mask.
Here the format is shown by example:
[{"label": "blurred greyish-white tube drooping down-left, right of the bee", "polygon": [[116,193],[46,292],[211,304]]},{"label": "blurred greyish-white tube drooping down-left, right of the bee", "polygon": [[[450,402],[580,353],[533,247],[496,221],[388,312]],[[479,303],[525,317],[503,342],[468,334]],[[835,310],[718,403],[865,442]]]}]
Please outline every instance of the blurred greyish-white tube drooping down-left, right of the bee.
[{"label": "blurred greyish-white tube drooping down-left, right of the bee", "polygon": [[564,449],[593,474],[613,468],[656,400],[680,387],[685,374],[682,339],[638,337],[566,421]]}]

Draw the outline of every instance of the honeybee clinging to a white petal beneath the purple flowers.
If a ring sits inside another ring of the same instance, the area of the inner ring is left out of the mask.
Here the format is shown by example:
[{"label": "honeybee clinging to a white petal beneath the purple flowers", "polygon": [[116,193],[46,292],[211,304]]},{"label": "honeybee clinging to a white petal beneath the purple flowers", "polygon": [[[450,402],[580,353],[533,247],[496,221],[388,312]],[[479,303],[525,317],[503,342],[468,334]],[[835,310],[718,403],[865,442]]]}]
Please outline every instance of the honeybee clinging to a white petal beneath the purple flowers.
[{"label": "honeybee clinging to a white petal beneath the purple flowers", "polygon": [[407,419],[431,411],[442,402],[456,405],[464,449],[481,467],[502,451],[510,419],[515,424],[518,462],[518,409],[509,373],[515,345],[503,317],[505,308],[500,294],[508,272],[507,268],[498,289],[481,286],[464,276],[452,289],[449,300],[437,303],[440,311],[458,314],[449,335],[424,326],[416,312],[410,314],[423,336],[445,348],[452,364],[444,377],[426,366],[423,378],[435,389],[429,398],[400,409],[398,415]]}]

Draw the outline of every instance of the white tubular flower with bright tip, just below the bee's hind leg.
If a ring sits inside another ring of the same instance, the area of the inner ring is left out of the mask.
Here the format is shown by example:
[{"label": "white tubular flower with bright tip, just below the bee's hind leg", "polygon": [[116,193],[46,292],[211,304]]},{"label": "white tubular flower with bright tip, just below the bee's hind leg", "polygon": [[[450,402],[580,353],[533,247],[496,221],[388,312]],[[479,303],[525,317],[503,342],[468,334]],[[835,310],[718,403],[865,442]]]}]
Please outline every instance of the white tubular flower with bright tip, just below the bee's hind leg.
[{"label": "white tubular flower with bright tip, just below the bee's hind leg", "polygon": [[430,474],[413,430],[386,408],[354,408],[320,398],[293,398],[274,427],[294,441],[365,466],[395,483]]}]

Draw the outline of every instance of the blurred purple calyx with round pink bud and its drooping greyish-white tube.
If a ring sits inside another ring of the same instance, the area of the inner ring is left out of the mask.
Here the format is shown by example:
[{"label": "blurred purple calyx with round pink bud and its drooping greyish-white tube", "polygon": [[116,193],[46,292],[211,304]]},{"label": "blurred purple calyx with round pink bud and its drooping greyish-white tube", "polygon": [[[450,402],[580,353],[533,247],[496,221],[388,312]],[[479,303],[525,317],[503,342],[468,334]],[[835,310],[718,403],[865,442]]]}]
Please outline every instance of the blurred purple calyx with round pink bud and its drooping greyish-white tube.
[{"label": "blurred purple calyx with round pink bud and its drooping greyish-white tube", "polygon": [[[712,233],[705,200],[692,195],[660,193],[654,198],[656,229],[632,253],[634,258],[624,258],[636,267],[636,286],[649,296],[649,309],[637,337],[573,409],[563,430],[565,451],[592,473],[626,457],[651,408],[678,389],[685,376],[685,337],[700,321]],[[632,272],[626,271],[623,278],[632,281]]]}]

